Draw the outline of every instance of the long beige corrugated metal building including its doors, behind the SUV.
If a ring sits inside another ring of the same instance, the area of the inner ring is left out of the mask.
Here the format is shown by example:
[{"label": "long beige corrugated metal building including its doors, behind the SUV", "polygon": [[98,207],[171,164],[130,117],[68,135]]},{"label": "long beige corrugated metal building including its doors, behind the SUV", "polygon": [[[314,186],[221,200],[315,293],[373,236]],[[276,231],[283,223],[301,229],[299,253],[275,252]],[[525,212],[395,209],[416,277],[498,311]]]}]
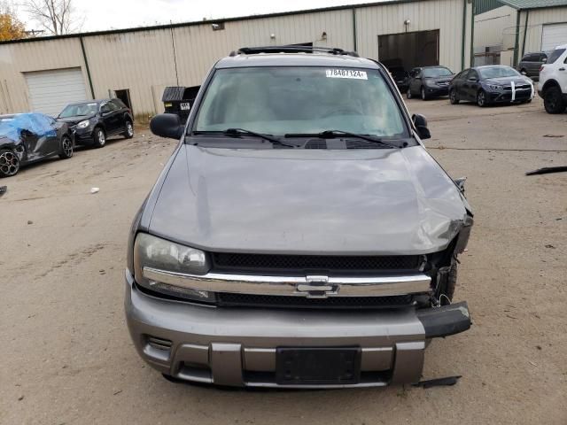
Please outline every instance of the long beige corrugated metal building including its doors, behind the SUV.
[{"label": "long beige corrugated metal building including its doors, behind the SUV", "polygon": [[166,86],[200,84],[216,60],[244,46],[309,43],[459,71],[470,63],[471,24],[471,0],[393,0],[0,42],[0,113],[56,114],[110,93],[147,118],[163,112]]}]

